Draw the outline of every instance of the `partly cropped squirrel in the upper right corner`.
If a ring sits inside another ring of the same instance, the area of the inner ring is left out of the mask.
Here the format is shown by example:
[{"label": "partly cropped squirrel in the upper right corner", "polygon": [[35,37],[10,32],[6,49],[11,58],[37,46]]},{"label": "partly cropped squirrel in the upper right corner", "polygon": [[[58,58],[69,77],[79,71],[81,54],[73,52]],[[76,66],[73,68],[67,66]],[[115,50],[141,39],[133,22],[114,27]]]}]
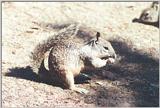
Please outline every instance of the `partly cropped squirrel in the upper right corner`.
[{"label": "partly cropped squirrel in the upper right corner", "polygon": [[133,22],[159,26],[159,15],[159,3],[158,1],[154,1],[149,8],[146,8],[142,11],[139,19],[135,18]]}]

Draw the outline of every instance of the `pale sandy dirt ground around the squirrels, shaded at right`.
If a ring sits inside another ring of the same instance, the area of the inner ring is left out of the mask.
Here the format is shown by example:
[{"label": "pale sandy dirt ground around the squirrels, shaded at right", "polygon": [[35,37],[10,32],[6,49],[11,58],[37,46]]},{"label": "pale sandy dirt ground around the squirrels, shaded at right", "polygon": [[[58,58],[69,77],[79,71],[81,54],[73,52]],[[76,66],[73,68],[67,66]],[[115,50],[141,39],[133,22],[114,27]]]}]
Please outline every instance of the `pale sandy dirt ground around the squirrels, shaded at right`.
[{"label": "pale sandy dirt ground around the squirrels, shaded at right", "polygon": [[[3,107],[159,106],[159,28],[133,23],[151,2],[3,2]],[[77,83],[88,94],[41,81],[30,67],[35,45],[56,30],[79,22],[103,33],[121,58]],[[49,24],[51,29],[39,24]]]}]

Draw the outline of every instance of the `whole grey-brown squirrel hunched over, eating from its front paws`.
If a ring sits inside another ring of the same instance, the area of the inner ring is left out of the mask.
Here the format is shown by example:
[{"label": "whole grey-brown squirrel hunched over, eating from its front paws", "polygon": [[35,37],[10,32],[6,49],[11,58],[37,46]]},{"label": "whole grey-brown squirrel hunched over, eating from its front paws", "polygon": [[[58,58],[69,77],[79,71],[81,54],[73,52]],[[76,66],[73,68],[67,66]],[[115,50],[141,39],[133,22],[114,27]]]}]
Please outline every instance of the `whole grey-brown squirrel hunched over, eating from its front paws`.
[{"label": "whole grey-brown squirrel hunched over, eating from its front paws", "polygon": [[37,45],[32,53],[32,63],[33,70],[38,72],[42,61],[47,58],[51,77],[57,77],[67,89],[84,92],[83,89],[75,87],[74,77],[82,70],[114,63],[116,53],[110,42],[100,37],[99,32],[84,43],[77,37],[79,31],[79,24],[71,24]]}]

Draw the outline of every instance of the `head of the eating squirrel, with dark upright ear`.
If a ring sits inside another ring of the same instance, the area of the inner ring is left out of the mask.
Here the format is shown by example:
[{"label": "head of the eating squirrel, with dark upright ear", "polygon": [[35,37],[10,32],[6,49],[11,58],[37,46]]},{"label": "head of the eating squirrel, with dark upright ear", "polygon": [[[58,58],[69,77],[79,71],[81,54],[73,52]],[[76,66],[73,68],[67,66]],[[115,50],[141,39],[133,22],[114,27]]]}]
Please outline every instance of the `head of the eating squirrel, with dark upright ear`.
[{"label": "head of the eating squirrel, with dark upright ear", "polygon": [[85,52],[89,57],[97,57],[100,59],[116,59],[116,53],[111,43],[101,38],[100,32],[97,32],[96,37],[85,44],[83,47],[83,52]]}]

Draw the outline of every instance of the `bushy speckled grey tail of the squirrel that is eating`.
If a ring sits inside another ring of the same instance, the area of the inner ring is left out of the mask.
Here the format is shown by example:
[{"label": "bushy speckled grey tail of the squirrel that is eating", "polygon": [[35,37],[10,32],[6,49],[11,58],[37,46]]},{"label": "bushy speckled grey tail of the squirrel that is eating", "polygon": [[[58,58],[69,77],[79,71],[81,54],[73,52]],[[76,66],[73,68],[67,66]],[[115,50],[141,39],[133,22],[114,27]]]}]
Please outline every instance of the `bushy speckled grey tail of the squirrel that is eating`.
[{"label": "bushy speckled grey tail of the squirrel that is eating", "polygon": [[[31,64],[32,69],[35,73],[38,73],[42,61],[45,58],[45,53],[50,51],[54,46],[54,43],[58,40],[66,40],[74,37],[78,32],[79,24],[74,23],[69,25],[67,28],[60,30],[57,34],[50,36],[47,40],[40,42],[33,52],[31,53]],[[56,47],[56,46],[54,46]]]}]

